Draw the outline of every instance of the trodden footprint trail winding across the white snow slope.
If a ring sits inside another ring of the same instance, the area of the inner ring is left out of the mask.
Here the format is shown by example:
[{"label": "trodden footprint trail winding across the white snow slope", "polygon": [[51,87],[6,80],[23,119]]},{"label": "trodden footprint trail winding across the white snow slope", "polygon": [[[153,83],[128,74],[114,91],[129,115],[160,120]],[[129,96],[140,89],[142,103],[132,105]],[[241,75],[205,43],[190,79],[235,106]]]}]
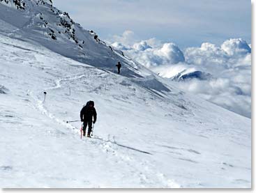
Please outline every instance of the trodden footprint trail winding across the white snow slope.
[{"label": "trodden footprint trail winding across the white snow slope", "polygon": [[[87,75],[93,76],[91,73]],[[63,88],[63,84],[68,84],[69,82],[77,81],[78,79],[81,79],[85,76],[86,75],[75,75],[73,77],[63,77],[60,79],[56,79],[54,80],[55,86],[52,86],[50,88],[45,88],[43,90],[50,92],[53,90],[61,89]],[[38,93],[39,92],[41,92],[41,90],[38,91]],[[38,109],[38,111],[40,111],[40,113],[45,114],[47,118],[52,119],[56,123],[59,123],[60,125],[63,125],[66,128],[75,130],[75,134],[78,134],[80,132],[79,128],[75,128],[74,125],[68,124],[66,123],[66,121],[61,121],[61,118],[57,118],[52,113],[50,113],[46,109],[45,105],[43,104],[44,102],[40,100],[40,98],[36,98],[36,96],[33,95],[33,93],[31,93],[30,91],[28,94],[34,100],[35,102],[34,105]],[[77,140],[79,140],[78,135],[77,135]],[[154,167],[150,166],[149,162],[141,162],[140,160],[135,159],[135,157],[133,156],[131,157],[127,154],[127,151],[132,151],[132,152],[135,151],[135,153],[139,153],[139,154],[143,153],[143,154],[151,155],[151,153],[149,152],[146,152],[144,150],[140,150],[137,148],[133,148],[131,146],[124,146],[122,144],[119,144],[118,142],[116,142],[115,137],[111,136],[110,134],[108,134],[107,139],[94,136],[93,139],[84,138],[82,139],[82,141],[84,142],[82,146],[83,145],[89,146],[88,148],[90,150],[94,149],[93,151],[96,152],[96,154],[102,154],[102,152],[105,153],[106,154],[105,156],[107,156],[107,159],[112,160],[111,162],[115,162],[115,163],[122,162],[122,164],[126,165],[126,167],[128,168],[133,167],[133,169],[131,169],[130,171],[133,173],[132,178],[133,180],[137,179],[137,182],[142,184],[142,187],[154,187],[156,182],[159,185],[159,187],[180,187],[180,185],[174,183],[174,180],[167,179],[163,173],[160,173],[156,171],[156,169],[153,169]],[[81,148],[81,150],[83,150],[83,147]],[[82,152],[80,151],[80,153]],[[89,171],[89,169],[86,169],[86,171]],[[124,174],[123,177],[125,177],[125,175],[126,174]],[[152,178],[152,175],[156,175],[156,178],[153,178],[153,180],[150,180],[150,178]],[[90,179],[88,179],[88,181],[90,181]],[[135,185],[135,183],[130,184],[128,187],[131,187],[131,185]]]}]

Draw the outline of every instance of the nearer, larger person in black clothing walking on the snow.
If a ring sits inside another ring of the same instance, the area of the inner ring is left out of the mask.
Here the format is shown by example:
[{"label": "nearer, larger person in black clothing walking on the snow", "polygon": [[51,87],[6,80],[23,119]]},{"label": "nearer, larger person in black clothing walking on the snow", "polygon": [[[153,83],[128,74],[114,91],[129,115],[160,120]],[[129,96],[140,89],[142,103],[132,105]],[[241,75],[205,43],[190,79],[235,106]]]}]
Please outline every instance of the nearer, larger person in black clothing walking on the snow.
[{"label": "nearer, larger person in black clothing walking on the snow", "polygon": [[92,123],[95,124],[97,120],[97,112],[94,108],[94,102],[89,101],[86,103],[80,112],[81,121],[84,122],[83,135],[85,136],[86,127],[88,125],[87,137],[91,137]]}]

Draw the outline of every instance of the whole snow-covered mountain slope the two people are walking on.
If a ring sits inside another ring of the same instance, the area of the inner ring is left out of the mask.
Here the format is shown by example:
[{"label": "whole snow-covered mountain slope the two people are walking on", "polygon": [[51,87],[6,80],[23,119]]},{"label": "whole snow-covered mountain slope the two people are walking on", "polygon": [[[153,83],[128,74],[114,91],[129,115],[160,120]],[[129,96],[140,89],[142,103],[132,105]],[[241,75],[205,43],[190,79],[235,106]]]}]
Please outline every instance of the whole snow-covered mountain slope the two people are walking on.
[{"label": "whole snow-covered mountain slope the two people are walking on", "polygon": [[[83,48],[52,39],[35,22],[43,13],[55,30],[52,6],[24,2],[0,4],[0,187],[251,186],[249,118],[179,91],[77,24]],[[81,123],[66,121],[88,100],[98,122],[81,140]]]}]

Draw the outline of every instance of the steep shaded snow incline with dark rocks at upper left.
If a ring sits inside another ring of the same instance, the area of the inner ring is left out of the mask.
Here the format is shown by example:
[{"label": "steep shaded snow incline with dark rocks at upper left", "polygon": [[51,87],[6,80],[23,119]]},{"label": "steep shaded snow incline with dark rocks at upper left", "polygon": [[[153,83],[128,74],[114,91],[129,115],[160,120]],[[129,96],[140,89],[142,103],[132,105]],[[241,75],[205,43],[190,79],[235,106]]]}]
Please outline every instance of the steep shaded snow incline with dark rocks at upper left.
[{"label": "steep shaded snow incline with dark rocks at upper left", "polygon": [[[68,13],[54,8],[48,1],[23,0],[24,9],[0,3],[0,33],[19,40],[33,41],[53,52],[75,61],[114,72],[118,61],[123,64],[123,75],[143,77],[150,74],[142,65],[130,61],[121,52],[100,40],[96,33],[75,23]],[[39,2],[39,3],[38,3]],[[95,39],[96,38],[96,39]]]}]

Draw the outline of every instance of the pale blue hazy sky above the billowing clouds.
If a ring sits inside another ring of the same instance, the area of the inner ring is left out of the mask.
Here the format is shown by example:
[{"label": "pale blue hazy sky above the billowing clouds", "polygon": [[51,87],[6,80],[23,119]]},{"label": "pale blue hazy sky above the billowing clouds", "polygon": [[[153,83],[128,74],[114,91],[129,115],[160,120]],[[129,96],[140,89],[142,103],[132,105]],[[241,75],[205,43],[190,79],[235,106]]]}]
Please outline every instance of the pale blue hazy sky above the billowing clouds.
[{"label": "pale blue hazy sky above the billowing clouds", "polygon": [[135,38],[156,38],[179,47],[204,42],[220,45],[229,38],[251,42],[251,2],[245,0],[54,0],[101,39],[130,30]]}]

